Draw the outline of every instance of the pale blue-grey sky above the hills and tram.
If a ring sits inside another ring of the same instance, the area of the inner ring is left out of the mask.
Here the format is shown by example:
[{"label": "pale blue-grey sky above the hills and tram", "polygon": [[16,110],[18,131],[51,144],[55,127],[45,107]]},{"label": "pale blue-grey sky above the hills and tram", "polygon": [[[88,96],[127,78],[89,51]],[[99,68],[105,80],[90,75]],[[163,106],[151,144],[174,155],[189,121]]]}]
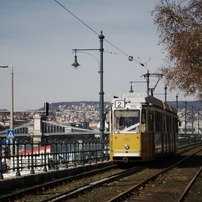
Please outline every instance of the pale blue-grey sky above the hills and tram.
[{"label": "pale blue-grey sky above the hills and tram", "polygon": [[[58,1],[118,47],[104,41],[105,101],[163,65],[165,54],[150,14],[158,0]],[[72,49],[99,48],[98,35],[55,0],[0,1],[0,27],[0,65],[14,69],[15,111],[38,109],[44,102],[99,100],[99,51],[78,52],[81,66],[71,67]],[[127,55],[135,61],[129,62]],[[156,81],[152,77],[150,87]],[[146,92],[146,84],[133,84],[133,89]],[[9,109],[10,69],[0,68],[0,92],[0,109]],[[160,81],[156,96],[164,99],[163,93]],[[167,100],[175,100],[176,93],[168,92]],[[178,93],[180,101],[194,100]]]}]

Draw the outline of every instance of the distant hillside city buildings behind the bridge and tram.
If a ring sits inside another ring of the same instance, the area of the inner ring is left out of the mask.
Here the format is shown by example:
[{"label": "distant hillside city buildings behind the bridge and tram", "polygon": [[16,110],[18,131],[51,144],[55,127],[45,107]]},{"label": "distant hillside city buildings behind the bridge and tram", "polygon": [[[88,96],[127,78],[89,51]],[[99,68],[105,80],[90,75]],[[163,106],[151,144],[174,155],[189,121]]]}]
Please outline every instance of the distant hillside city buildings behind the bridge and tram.
[{"label": "distant hillside city buildings behind the bridge and tram", "polygon": [[[181,123],[179,133],[198,133],[202,131],[202,109],[200,101],[185,102],[171,101],[168,104],[176,107],[178,105],[178,117]],[[105,114],[110,107],[110,102],[105,102]],[[14,113],[14,127],[33,120],[36,114],[44,114],[44,107],[24,112]],[[186,122],[185,122],[186,117]],[[99,124],[99,102],[80,101],[80,102],[56,102],[49,105],[48,120],[59,124],[77,126],[80,128],[98,129]],[[108,126],[108,116],[106,115],[105,127]],[[5,130],[10,126],[10,112],[0,109],[0,130]]]}]

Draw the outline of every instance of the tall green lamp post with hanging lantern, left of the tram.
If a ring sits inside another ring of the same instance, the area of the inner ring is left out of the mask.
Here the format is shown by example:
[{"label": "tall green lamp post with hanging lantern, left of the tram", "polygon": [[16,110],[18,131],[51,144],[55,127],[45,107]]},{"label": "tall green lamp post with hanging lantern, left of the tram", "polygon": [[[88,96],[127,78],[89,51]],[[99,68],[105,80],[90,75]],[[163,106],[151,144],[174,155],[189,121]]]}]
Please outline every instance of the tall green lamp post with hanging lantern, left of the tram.
[{"label": "tall green lamp post with hanging lantern, left of the tram", "polygon": [[95,51],[95,50],[99,50],[100,51],[100,69],[99,69],[99,73],[100,73],[100,145],[101,145],[101,157],[103,157],[103,150],[104,150],[104,91],[103,91],[103,52],[104,52],[104,48],[103,48],[103,40],[104,40],[104,35],[102,34],[102,31],[100,33],[100,35],[98,36],[98,38],[100,39],[100,48],[99,49],[73,49],[73,51],[75,52],[75,56],[74,56],[74,63],[72,64],[73,67],[77,68],[78,66],[80,66],[80,64],[77,61],[77,55],[76,52],[77,51]]}]

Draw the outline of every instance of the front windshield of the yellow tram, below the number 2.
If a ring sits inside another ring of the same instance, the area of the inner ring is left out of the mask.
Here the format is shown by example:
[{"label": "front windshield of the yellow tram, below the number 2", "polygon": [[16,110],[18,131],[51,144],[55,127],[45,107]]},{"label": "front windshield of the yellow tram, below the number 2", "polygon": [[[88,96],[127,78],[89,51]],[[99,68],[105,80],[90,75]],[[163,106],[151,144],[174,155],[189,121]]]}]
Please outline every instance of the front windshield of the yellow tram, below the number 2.
[{"label": "front windshield of the yellow tram, below the number 2", "polygon": [[114,111],[113,131],[115,133],[138,133],[140,128],[139,110]]}]

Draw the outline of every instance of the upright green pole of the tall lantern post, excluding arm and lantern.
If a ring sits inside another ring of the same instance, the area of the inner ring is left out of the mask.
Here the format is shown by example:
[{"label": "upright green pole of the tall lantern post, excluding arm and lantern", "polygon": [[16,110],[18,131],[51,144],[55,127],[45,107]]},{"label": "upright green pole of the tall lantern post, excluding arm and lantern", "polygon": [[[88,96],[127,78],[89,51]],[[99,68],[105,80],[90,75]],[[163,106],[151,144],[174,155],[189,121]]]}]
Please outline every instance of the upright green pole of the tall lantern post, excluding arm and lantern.
[{"label": "upright green pole of the tall lantern post, excluding arm and lantern", "polygon": [[100,39],[100,144],[101,144],[101,157],[103,157],[103,150],[104,150],[104,91],[103,91],[103,40],[104,35],[102,31],[99,35]]}]

